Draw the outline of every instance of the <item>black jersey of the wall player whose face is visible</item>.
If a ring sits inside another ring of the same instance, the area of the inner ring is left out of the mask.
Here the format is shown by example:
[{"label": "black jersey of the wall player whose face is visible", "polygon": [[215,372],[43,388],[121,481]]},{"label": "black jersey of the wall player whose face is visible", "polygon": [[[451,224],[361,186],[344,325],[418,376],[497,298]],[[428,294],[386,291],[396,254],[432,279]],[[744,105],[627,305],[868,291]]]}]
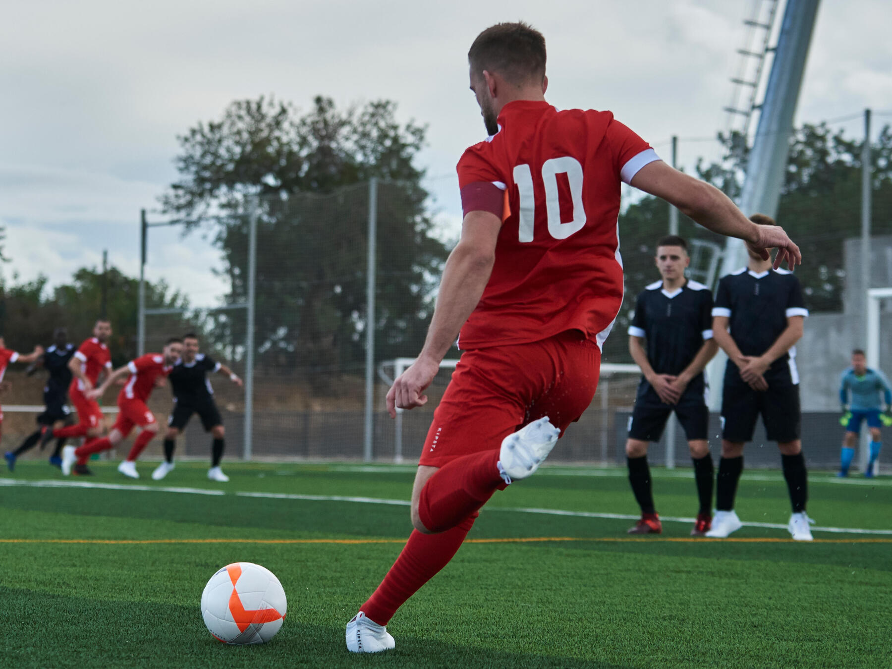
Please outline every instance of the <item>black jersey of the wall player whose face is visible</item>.
[{"label": "black jersey of the wall player whose face is visible", "polygon": [[[648,362],[657,374],[678,375],[712,339],[712,310],[713,296],[705,285],[687,281],[669,293],[656,281],[636,299],[629,334],[647,340]],[[702,383],[701,373],[688,387],[702,389]]]}]

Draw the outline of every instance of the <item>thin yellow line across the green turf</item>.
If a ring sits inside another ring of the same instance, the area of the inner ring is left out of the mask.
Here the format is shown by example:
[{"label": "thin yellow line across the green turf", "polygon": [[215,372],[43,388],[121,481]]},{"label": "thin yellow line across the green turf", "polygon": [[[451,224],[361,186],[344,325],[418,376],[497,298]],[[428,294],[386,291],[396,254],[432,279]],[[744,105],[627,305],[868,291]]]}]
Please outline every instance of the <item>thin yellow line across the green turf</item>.
[{"label": "thin yellow line across the green turf", "polygon": [[[548,541],[590,541],[608,543],[791,543],[780,538],[704,539],[701,537],[520,537],[508,539],[467,539],[465,543],[536,543]],[[86,543],[86,544],[150,544],[150,543],[258,543],[258,544],[369,544],[405,543],[405,539],[0,539],[0,543]],[[815,539],[811,543],[892,543],[889,539]]]}]

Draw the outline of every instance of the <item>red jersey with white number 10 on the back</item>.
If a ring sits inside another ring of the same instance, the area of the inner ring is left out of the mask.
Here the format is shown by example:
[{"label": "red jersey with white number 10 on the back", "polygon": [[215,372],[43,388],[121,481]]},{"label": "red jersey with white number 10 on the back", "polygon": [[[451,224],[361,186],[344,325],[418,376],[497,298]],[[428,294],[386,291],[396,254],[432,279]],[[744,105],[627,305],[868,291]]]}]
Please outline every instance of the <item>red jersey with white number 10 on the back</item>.
[{"label": "red jersey with white number 10 on the back", "polygon": [[503,224],[462,349],[530,343],[580,330],[599,347],[623,302],[620,185],[657,153],[609,111],[516,101],[500,131],[458,161],[458,186],[504,191]]}]

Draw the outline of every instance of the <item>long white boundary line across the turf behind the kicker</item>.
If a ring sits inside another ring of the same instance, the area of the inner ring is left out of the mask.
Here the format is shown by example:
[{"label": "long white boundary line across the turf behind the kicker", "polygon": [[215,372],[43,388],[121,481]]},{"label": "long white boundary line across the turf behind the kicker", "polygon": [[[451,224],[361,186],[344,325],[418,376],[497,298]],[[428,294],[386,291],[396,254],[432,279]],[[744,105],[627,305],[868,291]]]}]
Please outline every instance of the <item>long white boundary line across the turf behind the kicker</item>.
[{"label": "long white boundary line across the turf behind the kicker", "polygon": [[[153,492],[177,492],[190,495],[226,495],[226,491],[205,490],[203,488],[171,488],[153,485],[130,485],[127,483],[89,483],[81,481],[18,481],[12,478],[0,478],[0,486],[26,488],[98,488],[101,490],[134,490]],[[235,497],[252,497],[261,500],[303,500],[303,501],[337,501],[351,504],[385,504],[393,507],[409,507],[409,500],[386,500],[377,497],[346,497],[343,495],[302,495],[287,492],[239,492]],[[487,511],[508,511],[513,513],[542,514],[546,516],[570,516],[577,518],[606,518],[608,520],[638,520],[640,516],[630,514],[596,513],[594,511],[565,511],[559,508],[513,508],[488,507]],[[693,523],[695,518],[661,516],[660,520],[668,523]],[[744,523],[744,527],[767,527],[772,530],[786,530],[787,525],[780,523]],[[892,535],[892,530],[863,530],[855,527],[813,527],[814,532],[837,534],[880,534]]]}]

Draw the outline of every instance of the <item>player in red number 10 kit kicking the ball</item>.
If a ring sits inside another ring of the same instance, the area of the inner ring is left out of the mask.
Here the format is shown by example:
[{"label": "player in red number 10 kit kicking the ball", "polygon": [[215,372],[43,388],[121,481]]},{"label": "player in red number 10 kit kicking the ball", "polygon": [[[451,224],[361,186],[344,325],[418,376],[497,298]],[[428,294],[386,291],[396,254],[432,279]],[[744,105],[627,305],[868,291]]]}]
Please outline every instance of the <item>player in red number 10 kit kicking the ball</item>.
[{"label": "player in red number 10 kit kicking the ball", "polygon": [[[458,161],[464,219],[415,363],[387,393],[395,409],[424,392],[456,342],[462,355],[427,435],[412,490],[415,531],[347,624],[347,648],[393,648],[385,625],[455,555],[492,494],[532,475],[589,406],[600,352],[623,301],[620,186],[671,202],[775,264],[801,260],[778,227],[757,226],[721,191],[660,161],[609,111],[545,101],[545,39],[500,23],[468,53],[490,137]],[[519,594],[519,593],[518,593]]]}]

